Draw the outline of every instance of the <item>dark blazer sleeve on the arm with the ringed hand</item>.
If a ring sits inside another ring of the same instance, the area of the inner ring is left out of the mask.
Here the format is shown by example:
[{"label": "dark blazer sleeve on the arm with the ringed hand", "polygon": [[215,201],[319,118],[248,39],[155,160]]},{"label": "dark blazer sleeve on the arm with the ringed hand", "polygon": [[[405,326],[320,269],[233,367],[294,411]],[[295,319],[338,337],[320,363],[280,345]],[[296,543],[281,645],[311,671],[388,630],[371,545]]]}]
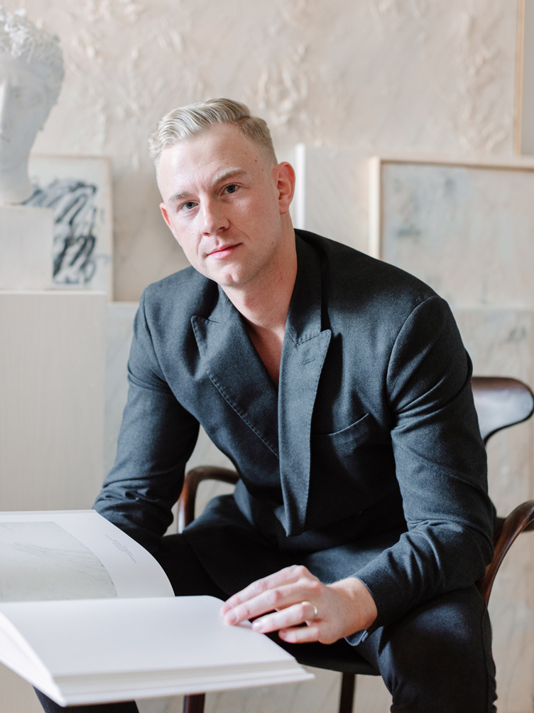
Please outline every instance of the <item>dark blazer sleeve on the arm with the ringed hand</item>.
[{"label": "dark blazer sleeve on the arm with the ringed hand", "polygon": [[372,630],[431,597],[473,585],[493,557],[495,511],[471,361],[440,297],[424,300],[404,322],[386,389],[407,532],[355,575],[375,598]]}]

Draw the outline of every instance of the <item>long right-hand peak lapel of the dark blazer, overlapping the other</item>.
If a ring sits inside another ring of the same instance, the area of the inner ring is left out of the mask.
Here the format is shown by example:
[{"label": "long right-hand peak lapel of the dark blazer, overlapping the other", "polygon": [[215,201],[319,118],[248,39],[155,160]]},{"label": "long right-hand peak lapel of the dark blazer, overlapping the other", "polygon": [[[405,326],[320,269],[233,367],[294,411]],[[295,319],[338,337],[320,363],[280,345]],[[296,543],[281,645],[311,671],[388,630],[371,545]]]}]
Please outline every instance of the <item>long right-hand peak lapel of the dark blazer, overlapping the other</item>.
[{"label": "long right-hand peak lapel of the dark blazer, overlapping the other", "polygon": [[283,340],[278,384],[278,448],[287,535],[305,529],[310,484],[310,432],[319,378],[332,332],[321,329],[319,257],[297,237],[298,272]]}]

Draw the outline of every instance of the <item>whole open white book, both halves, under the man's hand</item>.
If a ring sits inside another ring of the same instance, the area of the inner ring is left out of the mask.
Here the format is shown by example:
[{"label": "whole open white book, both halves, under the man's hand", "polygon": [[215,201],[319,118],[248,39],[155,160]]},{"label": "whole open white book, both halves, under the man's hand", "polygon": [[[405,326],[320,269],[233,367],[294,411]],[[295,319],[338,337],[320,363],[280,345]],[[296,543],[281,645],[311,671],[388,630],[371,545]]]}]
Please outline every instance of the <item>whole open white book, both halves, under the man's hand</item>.
[{"label": "whole open white book, both halves, under the man's hand", "polygon": [[93,510],[0,513],[0,662],[61,706],[313,678],[221,603]]}]

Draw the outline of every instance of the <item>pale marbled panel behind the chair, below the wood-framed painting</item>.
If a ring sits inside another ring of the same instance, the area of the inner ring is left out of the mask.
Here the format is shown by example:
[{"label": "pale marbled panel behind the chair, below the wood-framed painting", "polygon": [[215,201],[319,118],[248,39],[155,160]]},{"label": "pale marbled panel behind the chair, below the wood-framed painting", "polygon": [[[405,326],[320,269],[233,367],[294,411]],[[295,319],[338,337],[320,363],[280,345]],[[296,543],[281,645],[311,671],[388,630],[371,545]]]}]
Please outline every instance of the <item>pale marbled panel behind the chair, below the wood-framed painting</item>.
[{"label": "pale marbled panel behind the chair, below the wood-framed painting", "polygon": [[[514,376],[534,384],[534,312],[455,309],[474,374]],[[489,491],[499,515],[534,496],[534,419],[501,431],[488,443]],[[534,533],[515,542],[490,600],[500,713],[532,711],[534,693]]]}]

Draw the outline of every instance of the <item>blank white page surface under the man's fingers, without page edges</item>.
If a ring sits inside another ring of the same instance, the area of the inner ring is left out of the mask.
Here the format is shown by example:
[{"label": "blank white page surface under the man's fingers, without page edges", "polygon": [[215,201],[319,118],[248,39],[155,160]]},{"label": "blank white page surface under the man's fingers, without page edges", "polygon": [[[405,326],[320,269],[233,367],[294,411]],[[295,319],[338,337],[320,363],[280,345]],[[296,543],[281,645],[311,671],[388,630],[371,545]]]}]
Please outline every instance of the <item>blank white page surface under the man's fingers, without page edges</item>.
[{"label": "blank white page surface under the man's fingers, without page edges", "polygon": [[54,677],[294,661],[251,628],[224,624],[221,605],[214,597],[9,602],[0,622],[16,627]]}]

